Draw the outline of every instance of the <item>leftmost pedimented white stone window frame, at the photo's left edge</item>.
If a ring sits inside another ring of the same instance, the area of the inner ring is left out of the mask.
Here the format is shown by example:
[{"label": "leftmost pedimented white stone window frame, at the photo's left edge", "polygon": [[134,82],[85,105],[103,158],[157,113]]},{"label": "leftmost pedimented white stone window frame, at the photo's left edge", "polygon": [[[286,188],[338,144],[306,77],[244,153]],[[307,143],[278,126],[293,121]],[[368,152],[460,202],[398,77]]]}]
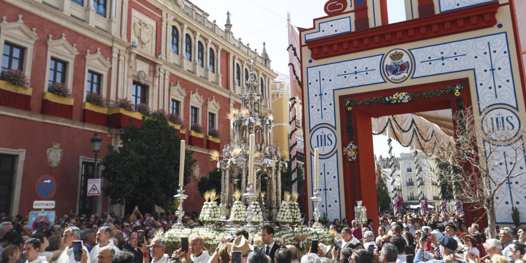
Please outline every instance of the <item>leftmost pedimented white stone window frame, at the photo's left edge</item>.
[{"label": "leftmost pedimented white stone window frame, at the photo's left edge", "polygon": [[[22,15],[18,15],[16,22],[7,22],[6,17],[2,17],[0,22],[0,50],[4,50],[5,42],[24,48],[23,71],[28,80],[31,80],[31,66],[33,64],[33,50],[38,36],[36,29],[27,27],[22,21]],[[2,57],[3,58],[3,57]],[[0,63],[2,63],[0,58]]]}]

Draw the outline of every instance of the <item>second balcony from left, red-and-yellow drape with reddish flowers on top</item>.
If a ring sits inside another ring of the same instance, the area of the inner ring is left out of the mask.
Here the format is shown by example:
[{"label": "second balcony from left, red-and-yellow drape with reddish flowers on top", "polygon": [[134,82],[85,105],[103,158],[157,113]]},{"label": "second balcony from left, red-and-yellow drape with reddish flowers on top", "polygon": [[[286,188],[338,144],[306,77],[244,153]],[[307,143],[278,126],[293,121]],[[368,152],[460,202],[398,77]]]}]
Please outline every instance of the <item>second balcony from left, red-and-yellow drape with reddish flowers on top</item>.
[{"label": "second balcony from left, red-and-yellow drape with reddish flowers on top", "polygon": [[43,94],[42,114],[73,118],[73,98],[65,83],[53,82]]}]

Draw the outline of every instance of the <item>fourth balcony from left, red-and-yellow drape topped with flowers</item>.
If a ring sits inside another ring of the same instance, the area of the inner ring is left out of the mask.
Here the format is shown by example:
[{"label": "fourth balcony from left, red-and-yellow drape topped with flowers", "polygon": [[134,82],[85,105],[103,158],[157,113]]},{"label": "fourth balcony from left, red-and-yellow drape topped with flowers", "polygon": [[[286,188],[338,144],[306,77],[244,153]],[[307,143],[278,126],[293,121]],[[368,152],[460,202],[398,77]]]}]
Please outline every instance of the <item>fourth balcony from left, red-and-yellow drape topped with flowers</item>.
[{"label": "fourth balcony from left, red-and-yellow drape topped with flowers", "polygon": [[137,127],[143,123],[143,115],[134,112],[134,104],[127,98],[117,98],[108,108],[108,127],[122,128],[128,124]]}]

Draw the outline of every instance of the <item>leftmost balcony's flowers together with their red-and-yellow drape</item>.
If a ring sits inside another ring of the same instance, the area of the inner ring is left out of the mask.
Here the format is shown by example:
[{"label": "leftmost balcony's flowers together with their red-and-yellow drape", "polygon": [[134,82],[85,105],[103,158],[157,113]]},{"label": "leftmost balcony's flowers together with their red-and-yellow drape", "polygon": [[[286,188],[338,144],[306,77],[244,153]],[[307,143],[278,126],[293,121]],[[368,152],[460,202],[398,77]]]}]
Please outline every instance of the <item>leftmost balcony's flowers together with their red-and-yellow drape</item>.
[{"label": "leftmost balcony's flowers together with their red-and-yellow drape", "polygon": [[22,70],[8,69],[0,73],[0,105],[31,110],[32,93]]}]

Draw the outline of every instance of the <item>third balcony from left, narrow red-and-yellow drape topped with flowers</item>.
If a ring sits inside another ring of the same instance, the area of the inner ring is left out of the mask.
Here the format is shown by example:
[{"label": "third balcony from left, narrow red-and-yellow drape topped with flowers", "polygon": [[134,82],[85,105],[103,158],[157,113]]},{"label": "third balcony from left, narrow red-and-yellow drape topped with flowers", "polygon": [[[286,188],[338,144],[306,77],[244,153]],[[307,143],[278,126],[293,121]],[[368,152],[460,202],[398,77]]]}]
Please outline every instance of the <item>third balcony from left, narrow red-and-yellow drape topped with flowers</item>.
[{"label": "third balcony from left, narrow red-and-yellow drape topped with flowers", "polygon": [[85,123],[105,126],[108,123],[108,108],[106,98],[97,93],[90,92],[83,104],[82,120]]}]

